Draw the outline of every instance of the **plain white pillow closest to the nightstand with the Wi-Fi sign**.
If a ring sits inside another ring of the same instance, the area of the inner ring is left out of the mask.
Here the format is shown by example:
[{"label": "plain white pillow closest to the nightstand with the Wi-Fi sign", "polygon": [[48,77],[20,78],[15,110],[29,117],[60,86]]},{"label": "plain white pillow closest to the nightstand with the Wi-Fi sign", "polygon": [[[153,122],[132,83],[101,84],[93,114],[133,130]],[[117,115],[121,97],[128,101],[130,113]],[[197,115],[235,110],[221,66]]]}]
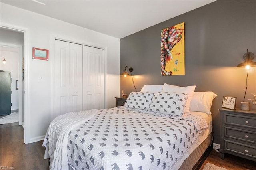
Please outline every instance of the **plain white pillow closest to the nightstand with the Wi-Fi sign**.
[{"label": "plain white pillow closest to the nightstand with the Wi-Fi sign", "polygon": [[211,113],[212,107],[212,100],[217,97],[215,93],[211,91],[206,92],[194,92],[189,110],[190,111],[197,111],[197,112],[204,112],[208,115]]}]

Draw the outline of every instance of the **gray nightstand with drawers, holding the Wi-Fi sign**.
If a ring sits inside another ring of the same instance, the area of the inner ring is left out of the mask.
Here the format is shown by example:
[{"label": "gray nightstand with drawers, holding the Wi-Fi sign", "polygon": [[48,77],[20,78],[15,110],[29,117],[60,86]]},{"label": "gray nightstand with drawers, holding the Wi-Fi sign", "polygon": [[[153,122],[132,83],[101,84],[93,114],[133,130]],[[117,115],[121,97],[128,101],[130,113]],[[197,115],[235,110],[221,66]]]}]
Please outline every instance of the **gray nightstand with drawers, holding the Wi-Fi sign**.
[{"label": "gray nightstand with drawers, holding the Wi-Fi sign", "polygon": [[256,111],[220,109],[220,158],[233,154],[256,161]]}]

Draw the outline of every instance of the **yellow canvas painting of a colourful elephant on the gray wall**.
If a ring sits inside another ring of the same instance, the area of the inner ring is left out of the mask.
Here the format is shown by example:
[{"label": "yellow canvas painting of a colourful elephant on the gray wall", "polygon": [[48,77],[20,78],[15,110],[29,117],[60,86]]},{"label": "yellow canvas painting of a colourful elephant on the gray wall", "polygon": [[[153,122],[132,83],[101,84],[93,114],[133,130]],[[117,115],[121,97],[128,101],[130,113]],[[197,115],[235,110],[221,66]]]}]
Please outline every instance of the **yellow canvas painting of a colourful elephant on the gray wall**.
[{"label": "yellow canvas painting of a colourful elephant on the gray wall", "polygon": [[185,75],[184,22],[161,31],[161,75]]}]

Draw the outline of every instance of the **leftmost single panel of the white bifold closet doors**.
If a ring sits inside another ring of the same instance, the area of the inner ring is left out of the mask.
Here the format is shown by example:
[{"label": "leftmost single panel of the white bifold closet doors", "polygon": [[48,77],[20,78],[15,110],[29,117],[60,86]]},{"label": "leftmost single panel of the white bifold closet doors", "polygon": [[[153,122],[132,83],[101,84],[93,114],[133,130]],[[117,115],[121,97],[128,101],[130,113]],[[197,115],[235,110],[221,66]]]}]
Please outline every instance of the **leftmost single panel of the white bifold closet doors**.
[{"label": "leftmost single panel of the white bifold closet doors", "polygon": [[70,80],[68,42],[55,41],[55,117],[70,111]]}]

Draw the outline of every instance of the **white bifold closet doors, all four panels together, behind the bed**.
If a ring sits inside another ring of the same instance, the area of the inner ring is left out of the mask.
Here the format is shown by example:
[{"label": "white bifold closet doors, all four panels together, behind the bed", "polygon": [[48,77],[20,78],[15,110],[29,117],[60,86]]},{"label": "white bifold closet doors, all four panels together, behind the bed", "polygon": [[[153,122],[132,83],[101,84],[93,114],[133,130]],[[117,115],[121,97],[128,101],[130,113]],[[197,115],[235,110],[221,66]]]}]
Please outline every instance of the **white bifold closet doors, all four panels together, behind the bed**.
[{"label": "white bifold closet doors, all four panels together, behind the bed", "polygon": [[104,108],[104,49],[55,40],[55,117]]}]

